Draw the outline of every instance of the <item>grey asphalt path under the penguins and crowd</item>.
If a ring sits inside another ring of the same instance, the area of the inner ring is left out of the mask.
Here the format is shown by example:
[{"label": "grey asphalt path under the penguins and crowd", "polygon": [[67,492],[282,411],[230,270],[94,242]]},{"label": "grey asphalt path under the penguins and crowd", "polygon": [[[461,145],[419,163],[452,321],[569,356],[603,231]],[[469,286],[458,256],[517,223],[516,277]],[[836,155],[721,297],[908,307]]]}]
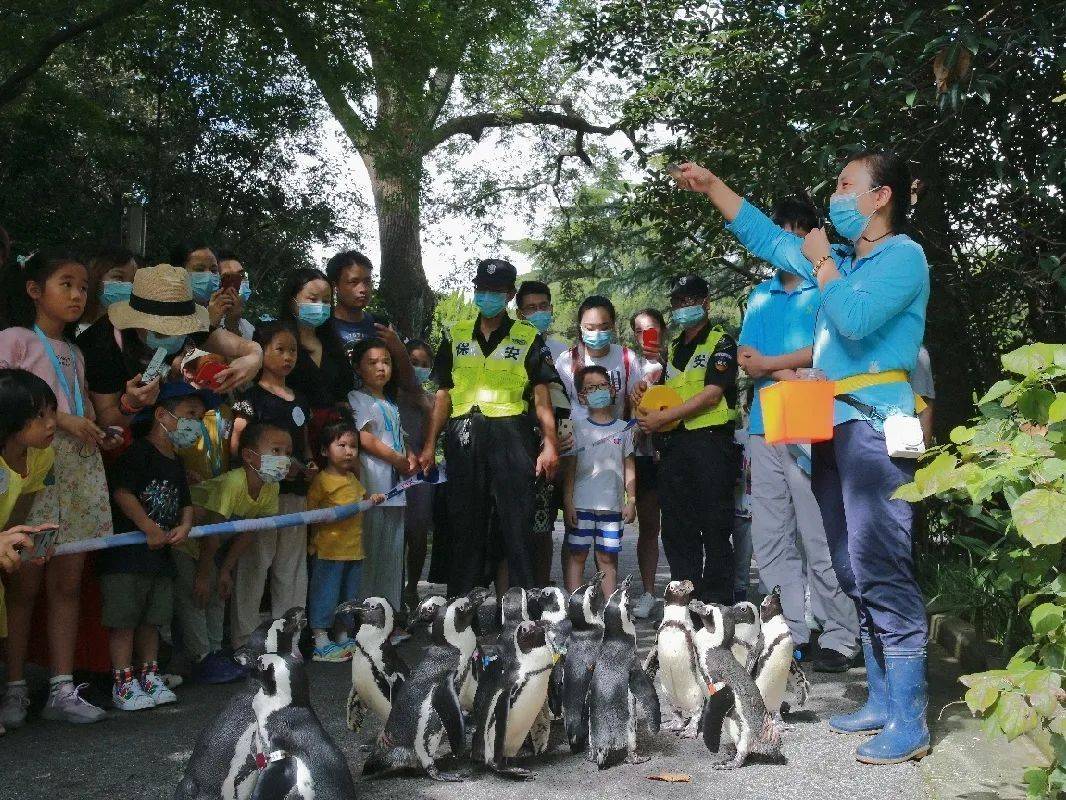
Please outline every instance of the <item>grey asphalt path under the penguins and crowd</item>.
[{"label": "grey asphalt path under the penguins and crowd", "polygon": [[[627,528],[620,573],[635,573],[635,529]],[[556,533],[556,539],[559,534]],[[661,559],[658,588],[668,580]],[[421,594],[435,587],[423,583]],[[652,618],[637,623],[642,653],[655,640],[661,603]],[[416,663],[425,640],[406,642],[401,654]],[[328,733],[349,757],[358,779],[366,754],[360,745],[376,736],[379,726],[371,717],[357,734],[344,724],[344,701],[351,682],[346,665],[309,666],[311,698]],[[39,676],[38,676],[39,677]],[[542,798],[588,798],[604,800],[642,796],[695,798],[701,800],[926,800],[930,791],[917,764],[871,767],[854,757],[861,737],[831,733],[826,720],[849,710],[863,698],[861,669],[844,675],[810,674],[807,705],[788,715],[791,730],[782,739],[784,761],[771,764],[749,761],[742,769],[717,771],[709,766],[700,739],[680,740],[663,732],[643,739],[639,750],[649,755],[644,764],[624,764],[598,770],[582,756],[571,755],[561,730],[553,731],[550,751],[520,759],[536,773],[530,783],[514,782],[474,770],[468,782],[436,783],[423,777],[357,781],[360,798],[406,800],[540,800]],[[225,705],[232,686],[182,686],[179,702],[150,711],[122,714],[94,725],[75,726],[39,718],[44,687],[27,725],[0,737],[0,800],[164,800],[173,796],[200,730]],[[103,702],[103,687],[93,686],[87,697]],[[103,702],[107,706],[108,704]],[[664,721],[671,717],[664,703]],[[688,782],[664,783],[649,775],[687,775]]]}]

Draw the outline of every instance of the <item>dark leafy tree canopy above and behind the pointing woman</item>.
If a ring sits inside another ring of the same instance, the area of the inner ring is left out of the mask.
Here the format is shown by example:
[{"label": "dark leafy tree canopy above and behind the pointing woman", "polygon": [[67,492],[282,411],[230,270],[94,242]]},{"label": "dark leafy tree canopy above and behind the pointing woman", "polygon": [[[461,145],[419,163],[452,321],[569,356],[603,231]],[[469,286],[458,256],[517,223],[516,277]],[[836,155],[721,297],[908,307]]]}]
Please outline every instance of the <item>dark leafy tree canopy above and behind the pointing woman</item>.
[{"label": "dark leafy tree canopy above and behind the pointing woman", "polygon": [[997,0],[604,0],[575,60],[612,73],[623,124],[649,131],[628,154],[647,180],[612,213],[652,243],[655,270],[698,262],[722,292],[743,290],[734,268],[754,269],[656,156],[704,163],[762,207],[789,194],[824,206],[860,147],[908,158],[923,183],[909,233],[932,268],[926,343],[947,430],[1000,353],[1066,340],[1064,36],[1061,0],[1025,13]]}]

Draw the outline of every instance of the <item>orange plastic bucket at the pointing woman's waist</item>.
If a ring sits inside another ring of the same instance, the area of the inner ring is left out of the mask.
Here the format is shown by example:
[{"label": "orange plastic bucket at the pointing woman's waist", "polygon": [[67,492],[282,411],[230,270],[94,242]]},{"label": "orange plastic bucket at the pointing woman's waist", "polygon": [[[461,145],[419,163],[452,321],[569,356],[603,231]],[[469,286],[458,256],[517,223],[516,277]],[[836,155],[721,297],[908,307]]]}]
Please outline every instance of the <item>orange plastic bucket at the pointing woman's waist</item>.
[{"label": "orange plastic bucket at the pointing woman's waist", "polygon": [[833,438],[833,381],[778,381],[759,389],[768,445]]}]

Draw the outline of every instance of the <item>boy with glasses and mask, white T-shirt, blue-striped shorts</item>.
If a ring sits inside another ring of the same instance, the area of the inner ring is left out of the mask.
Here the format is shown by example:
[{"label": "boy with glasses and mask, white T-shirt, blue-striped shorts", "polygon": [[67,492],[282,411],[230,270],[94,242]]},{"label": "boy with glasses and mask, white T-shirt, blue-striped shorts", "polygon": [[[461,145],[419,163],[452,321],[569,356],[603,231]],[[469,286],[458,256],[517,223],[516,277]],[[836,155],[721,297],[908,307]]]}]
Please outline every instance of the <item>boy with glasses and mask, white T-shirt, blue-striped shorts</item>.
[{"label": "boy with glasses and mask, white T-shirt, blue-striped shorts", "polygon": [[575,387],[588,414],[575,420],[575,454],[563,463],[563,577],[566,591],[576,590],[588,550],[594,549],[596,567],[604,575],[603,593],[611,596],[618,579],[623,527],[636,517],[633,437],[617,417],[615,389],[603,367],[583,367],[575,375]]}]

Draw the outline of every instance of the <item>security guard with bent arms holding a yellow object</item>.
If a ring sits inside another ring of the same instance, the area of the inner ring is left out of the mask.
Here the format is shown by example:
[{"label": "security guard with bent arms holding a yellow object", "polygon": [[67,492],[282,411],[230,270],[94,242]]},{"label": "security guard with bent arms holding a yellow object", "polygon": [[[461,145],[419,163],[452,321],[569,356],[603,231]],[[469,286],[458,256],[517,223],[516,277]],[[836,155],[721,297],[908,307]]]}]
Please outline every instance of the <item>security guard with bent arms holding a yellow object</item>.
[{"label": "security guard with bent arms holding a yellow object", "polygon": [[[733,443],[737,342],[711,327],[708,294],[707,282],[697,275],[674,281],[671,316],[681,333],[671,343],[660,380],[676,389],[683,402],[662,411],[642,411],[637,422],[656,434],[663,549],[672,579],[691,580],[705,602],[730,605],[730,535],[740,470]],[[677,428],[668,431],[675,422]]]}]

